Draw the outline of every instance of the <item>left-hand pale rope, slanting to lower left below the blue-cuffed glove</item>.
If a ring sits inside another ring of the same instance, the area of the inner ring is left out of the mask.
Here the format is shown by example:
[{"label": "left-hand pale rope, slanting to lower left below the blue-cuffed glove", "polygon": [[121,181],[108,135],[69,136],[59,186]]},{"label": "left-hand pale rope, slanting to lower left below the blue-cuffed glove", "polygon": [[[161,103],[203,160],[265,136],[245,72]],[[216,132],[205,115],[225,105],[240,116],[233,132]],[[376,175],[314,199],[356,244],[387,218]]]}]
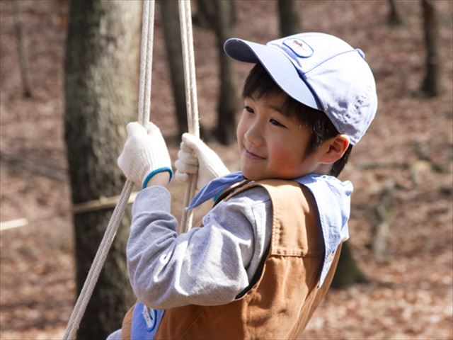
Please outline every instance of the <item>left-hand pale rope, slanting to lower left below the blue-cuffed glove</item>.
[{"label": "left-hand pale rope, slanting to lower left below the blue-cuffed glove", "polygon": [[[139,83],[139,123],[147,125],[149,122],[149,109],[151,107],[151,68],[152,68],[152,51],[153,51],[153,36],[154,36],[154,0],[143,0],[143,13],[142,13],[142,55],[140,59],[140,83]],[[125,186],[122,188],[120,200],[118,201],[115,210],[113,210],[112,217],[108,222],[107,229],[99,245],[96,256],[93,259],[90,271],[83,288],[77,298],[76,305],[72,311],[71,317],[64,331],[64,340],[72,340],[76,335],[77,329],[82,317],[84,316],[86,306],[93,294],[94,287],[101,273],[102,267],[107,258],[110,246],[112,246],[113,239],[120,222],[122,215],[124,215],[127,203],[132,193],[134,183],[126,181]]]}]

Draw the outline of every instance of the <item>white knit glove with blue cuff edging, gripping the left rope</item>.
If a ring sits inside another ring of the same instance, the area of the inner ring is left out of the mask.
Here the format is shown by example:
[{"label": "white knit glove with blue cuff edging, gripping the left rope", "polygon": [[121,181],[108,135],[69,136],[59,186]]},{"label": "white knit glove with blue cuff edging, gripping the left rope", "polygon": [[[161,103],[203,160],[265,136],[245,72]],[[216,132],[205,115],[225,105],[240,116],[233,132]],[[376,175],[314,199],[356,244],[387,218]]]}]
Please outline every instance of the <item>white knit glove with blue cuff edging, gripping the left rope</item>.
[{"label": "white knit glove with blue cuff edging, gripping the left rope", "polygon": [[168,168],[171,160],[161,130],[149,122],[148,131],[139,123],[127,124],[127,139],[118,157],[118,166],[127,179],[143,184],[152,171]]}]

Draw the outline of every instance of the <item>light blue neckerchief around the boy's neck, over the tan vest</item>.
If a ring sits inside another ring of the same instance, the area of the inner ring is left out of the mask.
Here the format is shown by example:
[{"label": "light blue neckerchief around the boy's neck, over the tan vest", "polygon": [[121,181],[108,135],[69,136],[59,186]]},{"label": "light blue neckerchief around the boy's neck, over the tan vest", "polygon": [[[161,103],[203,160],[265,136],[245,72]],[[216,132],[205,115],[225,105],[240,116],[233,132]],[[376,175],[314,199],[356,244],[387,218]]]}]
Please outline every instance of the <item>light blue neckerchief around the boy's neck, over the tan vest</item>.
[{"label": "light blue neckerchief around the boy's neck, over the tan vest", "polygon": [[[241,171],[236,171],[223,177],[219,177],[207,183],[193,198],[188,210],[197,207],[210,198],[219,196],[230,186],[246,179]],[[324,258],[319,287],[324,282],[328,270],[331,268],[333,255],[338,245],[349,238],[348,220],[350,215],[350,194],[352,184],[349,181],[342,182],[333,176],[308,174],[297,179],[292,179],[304,185],[313,194],[319,211],[319,220],[323,231],[326,254]]]}]

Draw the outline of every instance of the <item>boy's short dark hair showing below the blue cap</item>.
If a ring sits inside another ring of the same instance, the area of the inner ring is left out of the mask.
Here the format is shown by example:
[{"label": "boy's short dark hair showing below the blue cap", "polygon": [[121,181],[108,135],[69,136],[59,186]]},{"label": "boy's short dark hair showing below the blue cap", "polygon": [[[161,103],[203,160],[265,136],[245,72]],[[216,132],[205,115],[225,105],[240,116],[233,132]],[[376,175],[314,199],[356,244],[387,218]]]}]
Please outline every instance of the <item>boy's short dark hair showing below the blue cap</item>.
[{"label": "boy's short dark hair showing below the blue cap", "polygon": [[[246,82],[243,85],[243,98],[254,96],[255,98],[263,98],[270,94],[282,94],[285,92],[275,84],[275,81],[270,77],[268,72],[261,64],[256,64],[248,73]],[[339,134],[327,115],[323,111],[310,108],[294,98],[286,95],[285,103],[283,104],[283,113],[289,116],[295,116],[300,123],[311,129],[311,138],[309,140],[308,152],[314,152],[322,142]],[[352,145],[346,149],[343,157],[333,163],[329,175],[338,176],[348,162],[349,155],[352,150]]]}]

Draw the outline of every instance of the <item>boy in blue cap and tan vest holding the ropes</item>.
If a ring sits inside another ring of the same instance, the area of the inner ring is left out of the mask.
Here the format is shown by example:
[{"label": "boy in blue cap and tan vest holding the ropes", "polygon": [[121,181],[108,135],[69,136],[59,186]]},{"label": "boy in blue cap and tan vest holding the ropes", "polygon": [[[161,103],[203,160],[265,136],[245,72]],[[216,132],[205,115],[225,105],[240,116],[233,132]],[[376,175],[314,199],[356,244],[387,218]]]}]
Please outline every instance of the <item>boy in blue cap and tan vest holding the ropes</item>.
[{"label": "boy in blue cap and tan vest holding the ropes", "polygon": [[144,188],[127,245],[140,302],[110,339],[292,339],[331,283],[352,192],[336,176],[377,110],[365,56],[323,33],[224,49],[256,64],[237,128],[241,171],[188,134],[175,164],[182,181],[198,173],[189,208],[216,202],[202,227],[176,234],[164,139],[151,123],[127,126],[118,164]]}]

